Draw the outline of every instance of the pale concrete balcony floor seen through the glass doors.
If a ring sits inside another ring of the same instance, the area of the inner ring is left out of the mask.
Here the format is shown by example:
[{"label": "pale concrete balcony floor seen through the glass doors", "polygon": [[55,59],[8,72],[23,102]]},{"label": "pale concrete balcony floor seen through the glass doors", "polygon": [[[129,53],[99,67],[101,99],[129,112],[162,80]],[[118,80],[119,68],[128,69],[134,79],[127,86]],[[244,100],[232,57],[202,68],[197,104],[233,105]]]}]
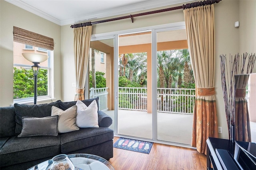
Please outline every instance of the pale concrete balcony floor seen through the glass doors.
[{"label": "pale concrete balcony floor seen through the glass doors", "polygon": [[[105,111],[114,122],[114,110]],[[191,144],[192,115],[158,113],[157,139]],[[114,129],[114,123],[110,126]],[[118,134],[152,139],[152,114],[144,111],[118,110]]]}]

